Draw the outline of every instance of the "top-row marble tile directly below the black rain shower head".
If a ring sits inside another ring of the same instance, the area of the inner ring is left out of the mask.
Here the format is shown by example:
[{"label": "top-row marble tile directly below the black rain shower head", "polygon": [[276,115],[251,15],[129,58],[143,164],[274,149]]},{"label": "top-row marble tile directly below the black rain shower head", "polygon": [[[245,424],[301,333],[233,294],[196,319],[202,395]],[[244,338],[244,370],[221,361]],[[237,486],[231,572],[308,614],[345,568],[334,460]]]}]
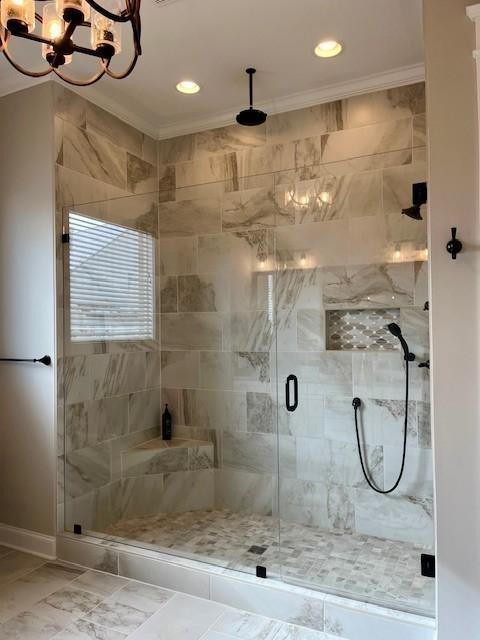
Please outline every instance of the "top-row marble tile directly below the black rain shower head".
[{"label": "top-row marble tile directly below the black rain shower head", "polygon": [[200,131],[195,134],[195,158],[237,151],[245,147],[260,147],[266,142],[266,125],[242,127],[234,124]]}]

